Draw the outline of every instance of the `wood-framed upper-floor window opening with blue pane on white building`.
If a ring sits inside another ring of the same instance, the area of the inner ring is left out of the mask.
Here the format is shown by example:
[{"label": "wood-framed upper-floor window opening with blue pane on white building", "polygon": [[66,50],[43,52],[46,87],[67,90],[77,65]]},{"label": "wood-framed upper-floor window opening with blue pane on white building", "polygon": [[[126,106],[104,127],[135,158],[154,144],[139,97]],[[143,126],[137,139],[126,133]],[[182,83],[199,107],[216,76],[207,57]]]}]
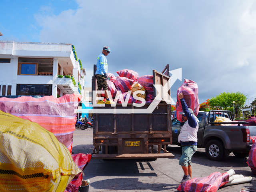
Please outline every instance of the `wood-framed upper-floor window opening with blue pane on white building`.
[{"label": "wood-framed upper-floor window opening with blue pane on white building", "polygon": [[18,75],[52,76],[53,59],[47,58],[19,58]]}]

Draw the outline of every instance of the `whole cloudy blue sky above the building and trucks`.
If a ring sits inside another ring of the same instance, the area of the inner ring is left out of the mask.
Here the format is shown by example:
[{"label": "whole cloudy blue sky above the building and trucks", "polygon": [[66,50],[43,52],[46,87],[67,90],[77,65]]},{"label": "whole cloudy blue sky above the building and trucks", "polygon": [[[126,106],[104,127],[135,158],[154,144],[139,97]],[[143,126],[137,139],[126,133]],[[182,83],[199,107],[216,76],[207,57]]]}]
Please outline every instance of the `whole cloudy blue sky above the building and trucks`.
[{"label": "whole cloudy blue sky above the building and trucks", "polygon": [[[256,97],[254,0],[2,2],[0,40],[75,45],[86,87],[98,55],[109,46],[110,73],[128,68],[151,75],[169,64],[198,84],[200,103],[222,92]],[[174,100],[181,84],[177,80],[171,88]]]}]

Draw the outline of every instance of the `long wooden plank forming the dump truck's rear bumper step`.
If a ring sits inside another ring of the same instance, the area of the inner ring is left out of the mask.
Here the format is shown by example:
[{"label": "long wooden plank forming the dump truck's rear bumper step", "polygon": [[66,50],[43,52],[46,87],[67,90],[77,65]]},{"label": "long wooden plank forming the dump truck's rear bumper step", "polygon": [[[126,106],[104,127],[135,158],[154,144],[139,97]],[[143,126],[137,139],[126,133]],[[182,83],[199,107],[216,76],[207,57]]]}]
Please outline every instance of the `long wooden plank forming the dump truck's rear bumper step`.
[{"label": "long wooden plank forming the dump truck's rear bumper step", "polygon": [[151,159],[151,158],[175,158],[172,153],[148,153],[148,154],[93,154],[92,159]]}]

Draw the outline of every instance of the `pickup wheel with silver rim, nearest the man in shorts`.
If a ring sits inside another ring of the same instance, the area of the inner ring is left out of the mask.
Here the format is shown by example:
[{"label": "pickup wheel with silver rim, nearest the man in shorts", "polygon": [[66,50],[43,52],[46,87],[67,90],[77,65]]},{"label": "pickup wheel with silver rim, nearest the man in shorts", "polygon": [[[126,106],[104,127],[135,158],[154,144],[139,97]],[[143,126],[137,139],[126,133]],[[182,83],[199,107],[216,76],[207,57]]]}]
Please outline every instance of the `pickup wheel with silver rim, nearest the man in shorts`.
[{"label": "pickup wheel with silver rim, nearest the man in shorts", "polygon": [[225,157],[225,148],[219,140],[210,140],[205,147],[206,156],[210,160],[220,161]]}]

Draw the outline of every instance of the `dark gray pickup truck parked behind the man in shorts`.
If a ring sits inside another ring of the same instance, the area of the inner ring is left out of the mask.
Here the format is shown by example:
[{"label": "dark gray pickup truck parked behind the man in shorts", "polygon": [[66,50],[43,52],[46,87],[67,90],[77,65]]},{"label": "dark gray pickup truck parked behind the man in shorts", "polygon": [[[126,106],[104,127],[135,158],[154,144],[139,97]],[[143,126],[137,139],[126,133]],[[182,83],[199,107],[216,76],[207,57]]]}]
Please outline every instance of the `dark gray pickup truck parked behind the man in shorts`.
[{"label": "dark gray pickup truck parked behind the man in shorts", "polygon": [[[210,114],[210,115],[209,115]],[[220,161],[231,152],[236,157],[246,158],[252,146],[250,137],[256,136],[256,126],[240,126],[247,122],[224,122],[214,123],[216,117],[222,116],[233,121],[230,111],[210,110],[209,112],[199,111],[197,118],[200,122],[197,132],[197,147],[205,148],[209,159]],[[233,124],[220,126],[216,124]],[[234,124],[237,124],[234,126]],[[180,134],[180,121],[172,119],[172,144],[180,146],[178,135]]]}]

